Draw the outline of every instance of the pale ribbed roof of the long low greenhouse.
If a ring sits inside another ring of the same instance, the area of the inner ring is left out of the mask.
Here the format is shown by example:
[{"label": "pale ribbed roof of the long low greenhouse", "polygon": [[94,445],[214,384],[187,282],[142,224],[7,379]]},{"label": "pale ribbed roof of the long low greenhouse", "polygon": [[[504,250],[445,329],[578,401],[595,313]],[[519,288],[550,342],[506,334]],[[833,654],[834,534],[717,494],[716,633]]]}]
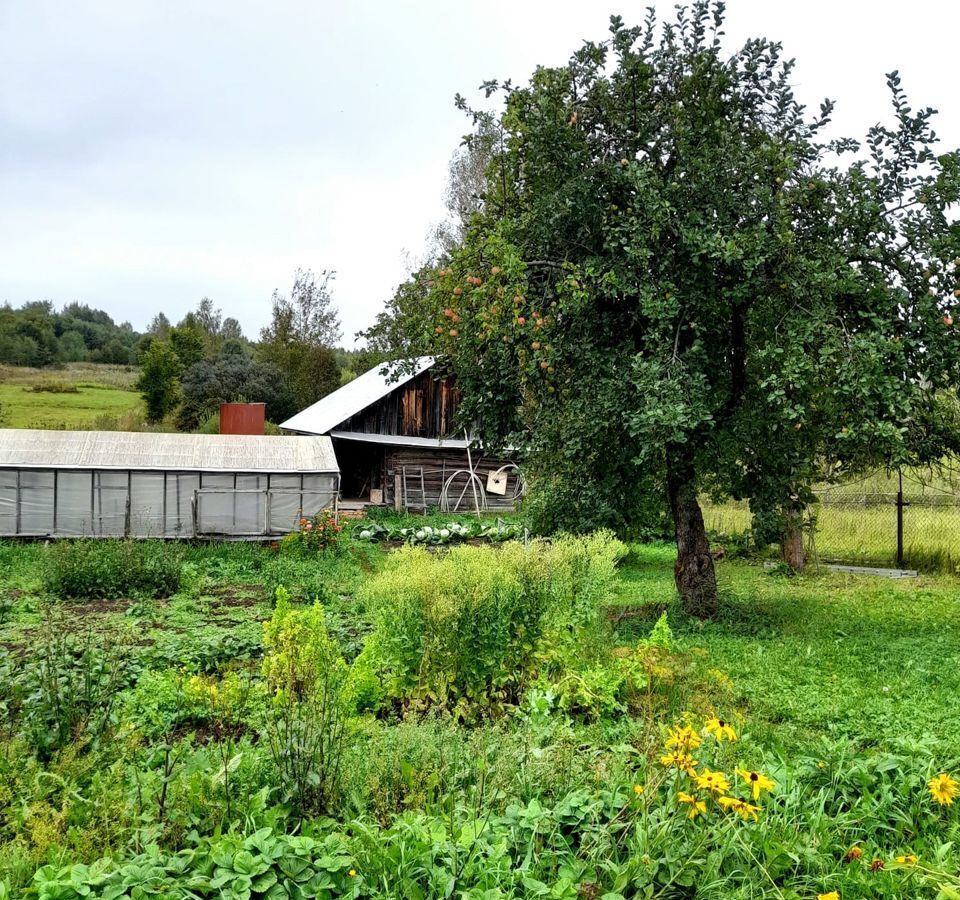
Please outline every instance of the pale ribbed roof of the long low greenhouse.
[{"label": "pale ribbed roof of the long low greenhouse", "polygon": [[339,472],[330,438],[0,429],[0,466],[180,472]]}]

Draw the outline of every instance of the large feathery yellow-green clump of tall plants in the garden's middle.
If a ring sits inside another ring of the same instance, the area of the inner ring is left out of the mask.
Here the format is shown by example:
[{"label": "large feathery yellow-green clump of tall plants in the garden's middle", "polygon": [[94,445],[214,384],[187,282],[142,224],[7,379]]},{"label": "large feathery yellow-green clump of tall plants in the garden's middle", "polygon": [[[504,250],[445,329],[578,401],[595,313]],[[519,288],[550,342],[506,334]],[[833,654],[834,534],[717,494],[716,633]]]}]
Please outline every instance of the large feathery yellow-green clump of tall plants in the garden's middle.
[{"label": "large feathery yellow-green clump of tall plants in the garden's middle", "polygon": [[596,620],[623,552],[609,533],[398,551],[360,592],[388,697],[461,716],[516,702],[545,633]]}]

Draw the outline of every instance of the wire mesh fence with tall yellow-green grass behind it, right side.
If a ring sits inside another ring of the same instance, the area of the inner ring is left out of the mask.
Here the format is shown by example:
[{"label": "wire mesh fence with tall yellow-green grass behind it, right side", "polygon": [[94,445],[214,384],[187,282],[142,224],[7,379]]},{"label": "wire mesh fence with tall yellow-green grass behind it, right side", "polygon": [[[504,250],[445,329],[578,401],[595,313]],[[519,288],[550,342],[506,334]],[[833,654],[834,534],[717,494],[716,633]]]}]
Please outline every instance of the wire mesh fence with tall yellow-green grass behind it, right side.
[{"label": "wire mesh fence with tall yellow-green grass behind it, right side", "polygon": [[[808,511],[808,552],[823,562],[960,575],[960,484],[952,477],[875,473],[817,492]],[[707,528],[750,527],[744,502],[708,505]]]}]

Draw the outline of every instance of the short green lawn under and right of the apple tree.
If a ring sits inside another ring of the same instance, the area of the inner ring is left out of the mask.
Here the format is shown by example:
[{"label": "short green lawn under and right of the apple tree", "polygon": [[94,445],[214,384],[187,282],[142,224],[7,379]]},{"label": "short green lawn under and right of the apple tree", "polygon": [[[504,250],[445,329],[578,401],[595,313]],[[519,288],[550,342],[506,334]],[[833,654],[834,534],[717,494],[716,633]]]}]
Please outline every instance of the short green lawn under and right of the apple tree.
[{"label": "short green lawn under and right of the apple tree", "polygon": [[933,741],[960,755],[956,578],[789,578],[722,562],[723,611],[701,626],[672,602],[672,560],[672,547],[635,548],[618,603],[667,604],[766,742],[812,752],[822,738],[860,750]]}]

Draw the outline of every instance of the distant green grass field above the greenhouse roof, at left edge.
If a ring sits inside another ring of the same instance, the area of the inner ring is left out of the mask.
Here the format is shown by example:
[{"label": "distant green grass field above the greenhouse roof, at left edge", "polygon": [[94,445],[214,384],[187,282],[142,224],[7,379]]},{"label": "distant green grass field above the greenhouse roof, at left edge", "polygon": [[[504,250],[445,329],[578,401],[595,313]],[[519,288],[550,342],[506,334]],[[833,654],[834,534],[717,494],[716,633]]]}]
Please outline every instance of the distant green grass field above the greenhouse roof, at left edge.
[{"label": "distant green grass field above the greenhouse roof, at left edge", "polygon": [[[0,366],[0,408],[7,428],[117,429],[133,427],[143,402],[130,366],[71,363],[63,369]],[[34,390],[35,386],[75,388],[76,392]]]}]

